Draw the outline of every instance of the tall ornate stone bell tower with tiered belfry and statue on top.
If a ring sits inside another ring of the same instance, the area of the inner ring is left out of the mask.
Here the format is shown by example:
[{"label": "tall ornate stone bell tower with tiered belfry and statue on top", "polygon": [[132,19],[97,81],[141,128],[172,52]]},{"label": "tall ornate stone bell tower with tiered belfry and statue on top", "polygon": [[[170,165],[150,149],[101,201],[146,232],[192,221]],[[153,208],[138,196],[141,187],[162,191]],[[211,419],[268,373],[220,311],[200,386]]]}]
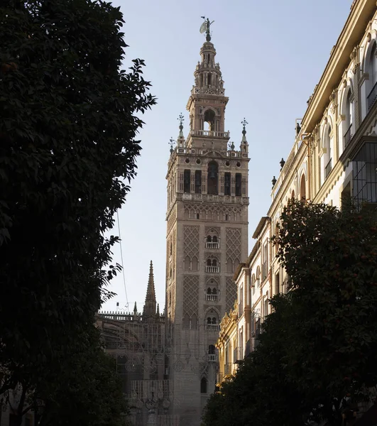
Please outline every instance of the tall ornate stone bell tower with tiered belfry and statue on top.
[{"label": "tall ornate stone bell tower with tiered belfry and statue on top", "polygon": [[[200,50],[187,110],[168,163],[166,373],[169,412],[180,426],[200,425],[214,391],[219,322],[234,304],[233,274],[248,253],[248,143],[229,144],[228,99],[209,35]],[[241,136],[241,135],[240,135]]]}]

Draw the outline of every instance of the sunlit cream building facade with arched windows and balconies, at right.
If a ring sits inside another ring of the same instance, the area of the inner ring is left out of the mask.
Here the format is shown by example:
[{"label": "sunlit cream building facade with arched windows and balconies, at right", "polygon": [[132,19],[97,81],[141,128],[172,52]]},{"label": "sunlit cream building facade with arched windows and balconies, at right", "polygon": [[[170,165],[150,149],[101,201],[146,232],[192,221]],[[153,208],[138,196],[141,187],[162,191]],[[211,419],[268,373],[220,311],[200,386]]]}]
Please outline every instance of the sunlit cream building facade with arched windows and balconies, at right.
[{"label": "sunlit cream building facade with arched windows and balconies, at right", "polygon": [[[288,200],[294,197],[342,208],[351,197],[359,207],[365,203],[376,205],[376,101],[376,1],[355,0],[322,77],[307,101],[307,110],[296,124],[293,148],[287,160],[280,161],[278,178],[273,178],[271,206],[253,233],[256,244],[234,276],[238,320],[233,326],[235,331],[228,327],[227,332],[236,334],[236,347],[246,349],[249,345],[252,350],[258,344],[261,322],[270,309],[268,299],[288,290],[288,277],[271,244]],[[220,334],[220,354],[226,352],[225,342]],[[244,350],[242,357],[245,354]],[[220,365],[220,380],[224,371],[225,364]]]}]

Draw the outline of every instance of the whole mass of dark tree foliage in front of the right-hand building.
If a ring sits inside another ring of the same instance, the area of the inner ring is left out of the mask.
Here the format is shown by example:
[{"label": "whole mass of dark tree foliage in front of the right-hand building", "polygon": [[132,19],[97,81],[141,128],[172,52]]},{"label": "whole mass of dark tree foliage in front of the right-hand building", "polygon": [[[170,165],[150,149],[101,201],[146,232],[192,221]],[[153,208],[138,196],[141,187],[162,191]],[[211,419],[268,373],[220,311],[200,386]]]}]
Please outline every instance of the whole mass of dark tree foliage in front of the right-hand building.
[{"label": "whole mass of dark tree foliage in front of the right-hand building", "polygon": [[288,295],[273,297],[259,344],[212,395],[207,426],[342,425],[342,413],[377,385],[377,218],[291,202],[278,258]]}]

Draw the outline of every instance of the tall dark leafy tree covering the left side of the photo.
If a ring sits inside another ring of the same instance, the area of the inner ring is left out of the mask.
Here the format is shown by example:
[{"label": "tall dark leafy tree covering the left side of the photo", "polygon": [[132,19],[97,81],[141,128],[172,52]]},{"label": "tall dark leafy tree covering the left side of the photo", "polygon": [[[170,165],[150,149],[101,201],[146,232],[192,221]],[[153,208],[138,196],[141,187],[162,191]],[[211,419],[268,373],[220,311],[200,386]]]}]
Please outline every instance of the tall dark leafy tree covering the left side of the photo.
[{"label": "tall dark leafy tree covering the left side of the photo", "polygon": [[0,22],[1,394],[33,389],[94,321],[155,99],[142,60],[121,70],[105,1],[5,0]]}]

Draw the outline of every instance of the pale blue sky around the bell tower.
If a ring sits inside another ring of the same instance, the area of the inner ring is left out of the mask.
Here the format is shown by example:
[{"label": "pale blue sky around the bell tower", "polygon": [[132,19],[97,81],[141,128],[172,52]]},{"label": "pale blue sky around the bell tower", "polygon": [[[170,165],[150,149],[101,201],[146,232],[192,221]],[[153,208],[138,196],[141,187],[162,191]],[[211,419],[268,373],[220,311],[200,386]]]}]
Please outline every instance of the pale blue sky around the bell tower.
[{"label": "pale blue sky around the bell tower", "polygon": [[[138,138],[141,156],[131,192],[119,211],[121,246],[114,246],[120,273],[109,285],[116,293],[102,310],[143,310],[149,263],[153,261],[155,292],[165,305],[166,180],[169,139],[178,136],[177,117],[185,116],[200,60],[204,35],[201,16],[214,21],[212,43],[217,50],[229,102],[225,130],[236,146],[241,121],[248,121],[249,144],[248,251],[253,231],[271,204],[271,180],[278,177],[295,138],[295,119],[319,82],[333,45],[349,15],[352,0],[114,0],[124,13],[126,56],[145,60],[144,78],[158,104],[144,114]],[[118,235],[118,222],[111,234]],[[121,256],[121,252],[123,256]]]}]

